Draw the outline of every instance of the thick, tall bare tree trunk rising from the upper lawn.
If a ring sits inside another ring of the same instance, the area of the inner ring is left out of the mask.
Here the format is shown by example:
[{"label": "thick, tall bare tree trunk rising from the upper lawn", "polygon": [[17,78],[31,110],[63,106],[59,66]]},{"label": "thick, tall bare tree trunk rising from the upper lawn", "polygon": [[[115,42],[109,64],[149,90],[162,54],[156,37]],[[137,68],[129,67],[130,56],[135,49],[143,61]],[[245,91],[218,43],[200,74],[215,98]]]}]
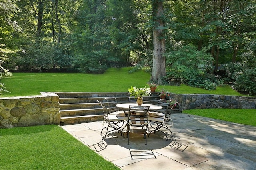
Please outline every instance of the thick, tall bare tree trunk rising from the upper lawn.
[{"label": "thick, tall bare tree trunk rising from the upper lawn", "polygon": [[155,25],[153,28],[153,68],[151,81],[158,82],[158,84],[163,84],[163,78],[166,76],[165,69],[165,38],[164,38],[164,20],[163,20],[163,2],[153,1],[153,17]]}]

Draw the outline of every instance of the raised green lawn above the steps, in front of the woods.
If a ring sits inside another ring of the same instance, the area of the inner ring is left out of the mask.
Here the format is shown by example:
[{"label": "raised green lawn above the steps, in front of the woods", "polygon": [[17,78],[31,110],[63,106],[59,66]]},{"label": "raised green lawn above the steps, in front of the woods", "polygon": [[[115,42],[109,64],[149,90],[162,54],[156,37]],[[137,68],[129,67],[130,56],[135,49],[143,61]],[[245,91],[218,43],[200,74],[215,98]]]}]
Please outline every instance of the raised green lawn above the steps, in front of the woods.
[{"label": "raised green lawn above the steps, in front of the woods", "polygon": [[[150,73],[140,70],[128,73],[132,68],[110,68],[104,74],[86,73],[13,73],[3,78],[6,90],[1,97],[38,95],[40,92],[128,92],[128,88],[143,88],[150,80]],[[204,90],[182,84],[181,86],[158,86],[176,94],[226,94],[244,96],[230,86],[216,90]]]}]

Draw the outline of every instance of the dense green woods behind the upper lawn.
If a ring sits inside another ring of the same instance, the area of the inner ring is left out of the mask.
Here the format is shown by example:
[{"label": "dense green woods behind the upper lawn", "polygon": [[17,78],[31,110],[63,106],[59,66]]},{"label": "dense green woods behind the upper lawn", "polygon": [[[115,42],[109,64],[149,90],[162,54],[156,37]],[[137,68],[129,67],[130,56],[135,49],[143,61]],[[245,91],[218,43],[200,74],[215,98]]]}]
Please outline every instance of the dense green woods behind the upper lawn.
[{"label": "dense green woods behind the upper lawn", "polygon": [[[1,0],[1,76],[152,69],[152,2]],[[256,1],[162,3],[166,83],[208,90],[226,83],[256,94]]]}]

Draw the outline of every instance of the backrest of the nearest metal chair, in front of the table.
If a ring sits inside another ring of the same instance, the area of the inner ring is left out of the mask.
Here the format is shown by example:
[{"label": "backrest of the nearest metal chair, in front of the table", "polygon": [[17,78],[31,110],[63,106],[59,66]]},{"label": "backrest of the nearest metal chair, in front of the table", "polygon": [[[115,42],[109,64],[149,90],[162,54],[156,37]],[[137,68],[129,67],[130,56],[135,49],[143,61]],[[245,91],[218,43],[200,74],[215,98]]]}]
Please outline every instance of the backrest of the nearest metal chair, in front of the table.
[{"label": "backrest of the nearest metal chair, in front of the table", "polygon": [[128,123],[131,126],[142,126],[148,124],[149,106],[129,106]]}]

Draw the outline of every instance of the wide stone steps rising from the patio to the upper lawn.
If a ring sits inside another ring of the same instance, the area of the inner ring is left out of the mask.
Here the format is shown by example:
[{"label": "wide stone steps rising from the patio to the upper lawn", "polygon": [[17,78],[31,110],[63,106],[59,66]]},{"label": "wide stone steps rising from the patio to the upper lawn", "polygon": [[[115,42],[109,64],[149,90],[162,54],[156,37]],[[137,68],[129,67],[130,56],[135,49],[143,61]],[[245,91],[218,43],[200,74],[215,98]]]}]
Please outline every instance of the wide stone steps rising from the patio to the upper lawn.
[{"label": "wide stone steps rising from the patio to the upper lawn", "polygon": [[[102,107],[100,102],[106,97],[115,97],[119,103],[136,102],[129,98],[128,92],[56,92],[60,102],[60,125],[102,121]],[[143,103],[157,104],[159,96],[152,93],[143,97]]]}]

